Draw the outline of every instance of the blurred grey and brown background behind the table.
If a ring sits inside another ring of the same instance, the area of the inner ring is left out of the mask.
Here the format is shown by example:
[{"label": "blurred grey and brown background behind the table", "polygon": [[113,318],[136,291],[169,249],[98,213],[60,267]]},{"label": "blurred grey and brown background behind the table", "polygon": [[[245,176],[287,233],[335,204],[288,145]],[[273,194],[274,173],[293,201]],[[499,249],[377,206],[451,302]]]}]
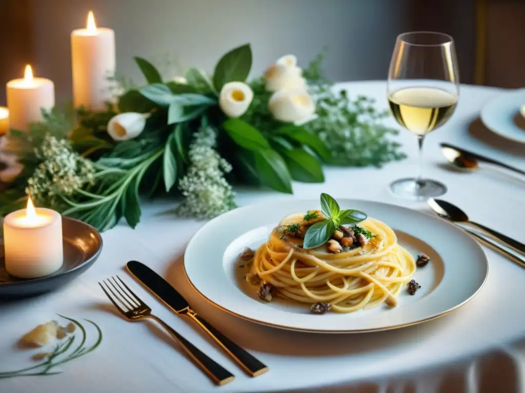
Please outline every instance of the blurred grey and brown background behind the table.
[{"label": "blurred grey and brown background behind the table", "polygon": [[212,71],[246,42],[252,76],[287,53],[306,67],[328,47],[329,78],[385,79],[397,34],[437,30],[456,40],[461,82],[525,84],[522,0],[0,0],[0,105],[27,63],[55,82],[58,102],[70,99],[70,33],[86,26],[89,10],[115,30],[118,73],[138,82],[133,56],[175,77],[189,65]]}]

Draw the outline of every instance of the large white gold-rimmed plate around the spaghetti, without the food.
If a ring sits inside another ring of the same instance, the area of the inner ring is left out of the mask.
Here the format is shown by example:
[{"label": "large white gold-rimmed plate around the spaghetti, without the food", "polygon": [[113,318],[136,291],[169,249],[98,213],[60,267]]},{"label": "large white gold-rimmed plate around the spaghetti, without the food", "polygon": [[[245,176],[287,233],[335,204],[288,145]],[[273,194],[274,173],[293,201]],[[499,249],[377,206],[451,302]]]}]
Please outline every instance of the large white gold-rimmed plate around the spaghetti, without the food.
[{"label": "large white gold-rimmed plate around the spaghetti, without the food", "polygon": [[319,199],[284,200],[248,205],[209,221],[191,239],[184,269],[193,287],[217,307],[249,321],[281,329],[318,333],[357,333],[402,328],[457,309],[483,286],[488,272],[481,247],[459,228],[439,217],[400,206],[340,199],[341,209],[358,209],[390,225],[398,242],[431,261],[413,278],[415,295],[402,290],[398,305],[342,314],[312,314],[307,304],[260,300],[249,287],[238,256],[245,247],[266,242],[279,221],[293,212],[319,209]]}]

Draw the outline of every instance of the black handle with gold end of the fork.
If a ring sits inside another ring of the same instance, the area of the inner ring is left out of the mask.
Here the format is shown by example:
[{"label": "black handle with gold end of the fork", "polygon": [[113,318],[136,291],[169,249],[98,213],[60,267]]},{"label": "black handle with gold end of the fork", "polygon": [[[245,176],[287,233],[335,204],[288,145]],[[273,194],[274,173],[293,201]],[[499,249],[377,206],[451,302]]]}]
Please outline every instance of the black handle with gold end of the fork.
[{"label": "black handle with gold end of the fork", "polygon": [[234,375],[226,368],[215,362],[212,358],[201,352],[195,345],[187,341],[183,336],[175,332],[168,324],[155,315],[149,315],[149,318],[159,322],[175,340],[177,340],[193,361],[208,374],[217,385],[225,385],[235,379]]}]

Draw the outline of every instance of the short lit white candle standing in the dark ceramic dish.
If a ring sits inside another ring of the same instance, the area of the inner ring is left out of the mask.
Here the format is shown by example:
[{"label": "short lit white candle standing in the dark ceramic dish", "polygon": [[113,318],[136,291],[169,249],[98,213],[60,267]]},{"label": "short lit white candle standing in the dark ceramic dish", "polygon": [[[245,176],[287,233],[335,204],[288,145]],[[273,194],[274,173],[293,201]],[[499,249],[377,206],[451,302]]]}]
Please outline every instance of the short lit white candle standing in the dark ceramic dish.
[{"label": "short lit white candle standing in the dark ceramic dish", "polygon": [[4,219],[5,268],[19,278],[44,277],[56,272],[64,261],[62,217],[51,209],[27,208]]}]

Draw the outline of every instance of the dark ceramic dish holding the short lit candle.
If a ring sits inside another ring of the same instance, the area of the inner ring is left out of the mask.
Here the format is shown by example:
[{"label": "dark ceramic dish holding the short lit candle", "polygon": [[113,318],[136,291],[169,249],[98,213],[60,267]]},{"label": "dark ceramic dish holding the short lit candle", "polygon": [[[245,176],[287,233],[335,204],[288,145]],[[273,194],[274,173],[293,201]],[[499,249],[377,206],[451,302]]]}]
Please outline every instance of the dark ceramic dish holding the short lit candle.
[{"label": "dark ceramic dish holding the short lit candle", "polygon": [[20,299],[46,293],[65,285],[86,271],[99,257],[102,238],[95,228],[82,221],[62,217],[64,264],[52,275],[22,279],[5,270],[4,246],[0,247],[0,300]]}]

